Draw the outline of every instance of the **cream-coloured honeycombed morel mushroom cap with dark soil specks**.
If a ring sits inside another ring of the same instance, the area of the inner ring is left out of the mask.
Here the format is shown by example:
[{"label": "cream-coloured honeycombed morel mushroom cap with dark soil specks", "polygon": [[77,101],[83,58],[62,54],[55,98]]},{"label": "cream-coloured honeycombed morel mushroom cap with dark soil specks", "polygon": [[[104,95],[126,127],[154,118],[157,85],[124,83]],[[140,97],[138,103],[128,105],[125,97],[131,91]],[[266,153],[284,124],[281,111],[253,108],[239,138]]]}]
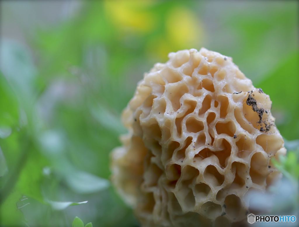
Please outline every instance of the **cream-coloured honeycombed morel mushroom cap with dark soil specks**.
[{"label": "cream-coloured honeycombed morel mushroom cap with dark soil specks", "polygon": [[280,177],[270,158],[286,149],[270,110],[230,57],[170,53],[123,111],[112,181],[142,226],[242,226],[248,193]]}]

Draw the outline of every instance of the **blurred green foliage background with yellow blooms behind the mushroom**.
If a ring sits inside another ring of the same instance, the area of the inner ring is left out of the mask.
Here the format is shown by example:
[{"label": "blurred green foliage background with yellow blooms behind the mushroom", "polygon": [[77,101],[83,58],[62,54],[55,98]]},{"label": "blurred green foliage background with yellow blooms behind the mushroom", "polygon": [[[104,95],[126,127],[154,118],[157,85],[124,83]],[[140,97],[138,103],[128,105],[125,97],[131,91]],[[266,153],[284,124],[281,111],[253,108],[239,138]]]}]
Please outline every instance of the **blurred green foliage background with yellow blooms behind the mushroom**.
[{"label": "blurred green foliage background with yellow blooms behind the mushroom", "polygon": [[[233,57],[298,149],[298,1],[0,4],[1,226],[71,226],[76,216],[138,226],[109,183],[109,153],[136,83],[180,49]],[[282,168],[296,179],[292,155]]]}]

